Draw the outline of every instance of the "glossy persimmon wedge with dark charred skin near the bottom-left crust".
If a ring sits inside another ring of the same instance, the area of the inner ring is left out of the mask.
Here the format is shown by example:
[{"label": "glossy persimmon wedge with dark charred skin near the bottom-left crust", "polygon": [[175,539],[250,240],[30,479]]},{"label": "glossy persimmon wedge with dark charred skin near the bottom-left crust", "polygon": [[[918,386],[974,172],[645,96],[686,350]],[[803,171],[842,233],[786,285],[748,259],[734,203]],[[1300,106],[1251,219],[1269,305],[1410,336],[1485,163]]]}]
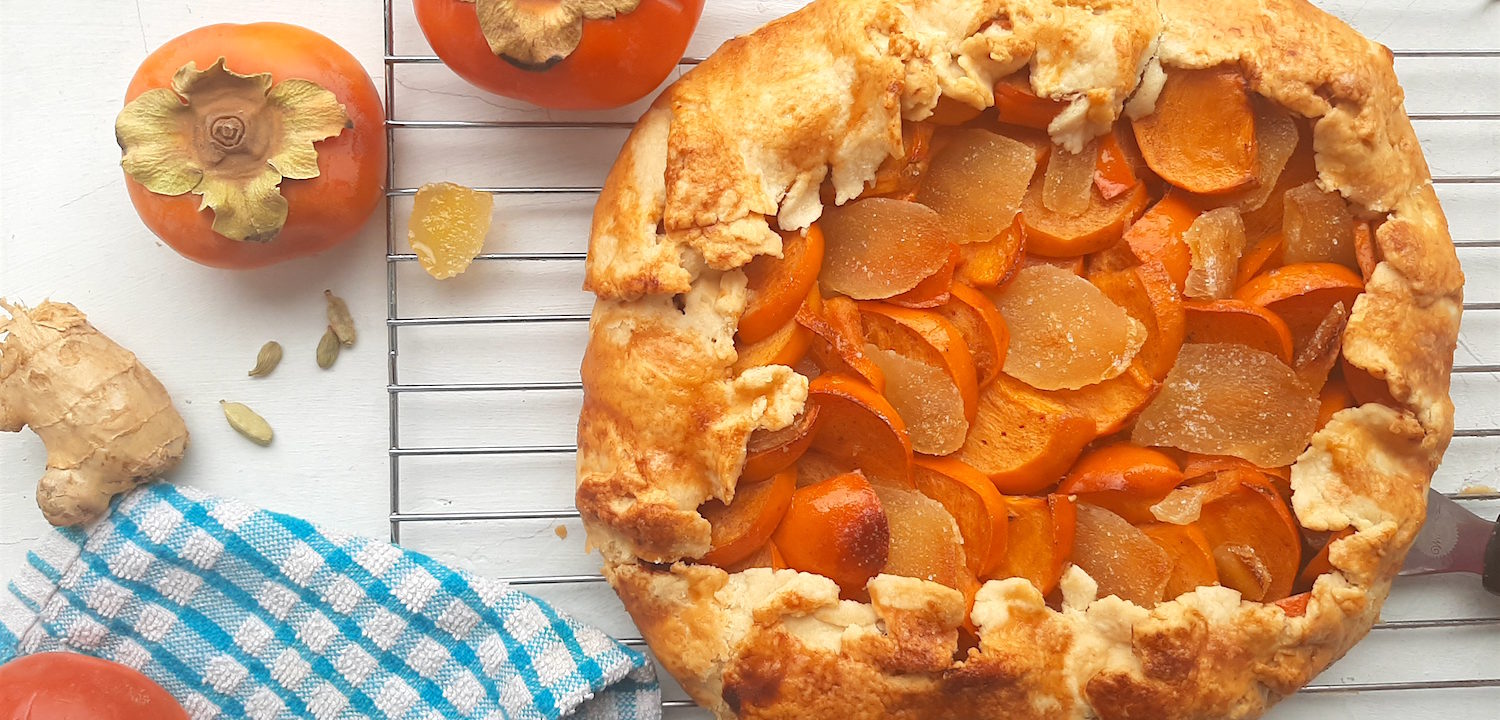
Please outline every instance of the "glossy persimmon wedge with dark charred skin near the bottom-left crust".
[{"label": "glossy persimmon wedge with dark charred skin near the bottom-left crust", "polygon": [[891,525],[870,482],[846,472],[798,488],[771,540],[789,567],[858,594],[890,558]]}]

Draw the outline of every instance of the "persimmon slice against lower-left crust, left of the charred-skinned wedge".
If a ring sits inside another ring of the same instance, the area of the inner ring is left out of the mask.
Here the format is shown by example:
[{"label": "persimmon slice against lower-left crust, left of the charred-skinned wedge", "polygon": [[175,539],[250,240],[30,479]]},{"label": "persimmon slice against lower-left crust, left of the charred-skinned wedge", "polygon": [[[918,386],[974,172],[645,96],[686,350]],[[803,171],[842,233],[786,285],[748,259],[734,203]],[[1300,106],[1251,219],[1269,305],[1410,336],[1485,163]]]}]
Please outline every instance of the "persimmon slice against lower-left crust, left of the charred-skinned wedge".
[{"label": "persimmon slice against lower-left crust, left of the charred-skinned wedge", "polygon": [[777,472],[770,480],[740,484],[726,506],[717,500],[704,502],[699,513],[710,525],[710,566],[724,567],[750,556],[776,531],[796,490],[796,468]]}]

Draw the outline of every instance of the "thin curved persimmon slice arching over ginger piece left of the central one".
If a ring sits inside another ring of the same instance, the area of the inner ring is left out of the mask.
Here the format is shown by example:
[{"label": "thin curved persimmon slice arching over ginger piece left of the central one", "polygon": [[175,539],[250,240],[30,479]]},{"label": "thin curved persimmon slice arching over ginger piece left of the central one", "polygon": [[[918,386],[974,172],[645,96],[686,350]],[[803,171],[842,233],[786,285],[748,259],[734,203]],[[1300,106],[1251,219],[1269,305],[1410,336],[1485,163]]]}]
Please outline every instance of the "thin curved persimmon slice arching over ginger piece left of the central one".
[{"label": "thin curved persimmon slice arching over ginger piece left of the central one", "polygon": [[963,417],[974,423],[980,382],[963,333],[942,315],[888,303],[860,303],[864,339],[879,348],[944,369],[963,399]]}]

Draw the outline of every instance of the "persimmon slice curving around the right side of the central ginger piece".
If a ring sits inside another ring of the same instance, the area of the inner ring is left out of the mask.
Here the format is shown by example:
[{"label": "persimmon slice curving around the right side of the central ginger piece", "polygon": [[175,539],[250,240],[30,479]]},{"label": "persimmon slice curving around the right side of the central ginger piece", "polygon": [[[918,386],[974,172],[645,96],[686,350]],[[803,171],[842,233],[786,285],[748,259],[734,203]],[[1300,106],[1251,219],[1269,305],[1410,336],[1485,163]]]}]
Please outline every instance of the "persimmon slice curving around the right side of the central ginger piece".
[{"label": "persimmon slice curving around the right side of the central ginger piece", "polygon": [[1114,304],[1146,327],[1146,342],[1136,354],[1148,375],[1162,380],[1178,362],[1186,333],[1182,296],[1158,261],[1089,276]]}]

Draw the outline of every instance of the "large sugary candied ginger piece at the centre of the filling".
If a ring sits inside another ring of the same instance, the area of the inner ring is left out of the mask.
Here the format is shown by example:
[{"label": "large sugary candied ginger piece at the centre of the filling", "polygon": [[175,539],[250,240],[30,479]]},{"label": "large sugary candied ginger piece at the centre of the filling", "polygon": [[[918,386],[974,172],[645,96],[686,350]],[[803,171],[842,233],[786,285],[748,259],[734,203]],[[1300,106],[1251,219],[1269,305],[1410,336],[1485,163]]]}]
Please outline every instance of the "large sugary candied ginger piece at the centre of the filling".
[{"label": "large sugary candied ginger piece at the centre of the filling", "polygon": [[1035,264],[990,296],[1011,330],[1005,374],[1040,390],[1077,390],[1130,368],[1146,327],[1100,288]]}]

